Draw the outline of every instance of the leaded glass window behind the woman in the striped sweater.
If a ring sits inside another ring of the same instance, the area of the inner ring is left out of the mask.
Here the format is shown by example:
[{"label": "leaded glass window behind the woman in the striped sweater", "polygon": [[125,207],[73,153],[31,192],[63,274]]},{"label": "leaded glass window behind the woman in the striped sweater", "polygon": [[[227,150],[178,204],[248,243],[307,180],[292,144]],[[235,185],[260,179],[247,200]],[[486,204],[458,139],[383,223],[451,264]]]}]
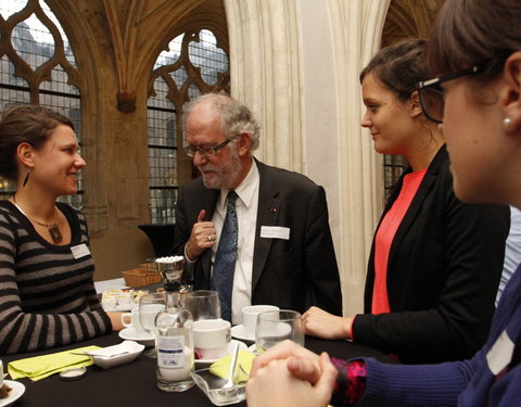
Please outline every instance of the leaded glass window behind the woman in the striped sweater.
[{"label": "leaded glass window behind the woman in the striped sweater", "polygon": [[[53,109],[73,120],[81,143],[81,99],[69,85],[71,75],[77,75],[76,60],[54,13],[43,0],[2,1],[0,25],[9,34],[0,37],[0,110],[28,103]],[[78,182],[78,194],[60,201],[81,207],[81,174]],[[0,178],[0,199],[14,191],[15,182]]]}]

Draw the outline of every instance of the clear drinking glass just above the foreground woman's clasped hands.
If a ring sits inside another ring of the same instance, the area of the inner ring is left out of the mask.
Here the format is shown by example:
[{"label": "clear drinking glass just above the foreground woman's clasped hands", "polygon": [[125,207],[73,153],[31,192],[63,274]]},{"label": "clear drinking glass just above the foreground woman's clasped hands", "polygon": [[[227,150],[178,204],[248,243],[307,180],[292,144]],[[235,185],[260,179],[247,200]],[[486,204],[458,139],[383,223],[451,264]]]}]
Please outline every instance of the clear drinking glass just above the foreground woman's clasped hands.
[{"label": "clear drinking glass just above the foreground woman's clasped hands", "polygon": [[258,355],[287,339],[304,346],[304,323],[300,313],[279,309],[257,316],[255,348]]}]

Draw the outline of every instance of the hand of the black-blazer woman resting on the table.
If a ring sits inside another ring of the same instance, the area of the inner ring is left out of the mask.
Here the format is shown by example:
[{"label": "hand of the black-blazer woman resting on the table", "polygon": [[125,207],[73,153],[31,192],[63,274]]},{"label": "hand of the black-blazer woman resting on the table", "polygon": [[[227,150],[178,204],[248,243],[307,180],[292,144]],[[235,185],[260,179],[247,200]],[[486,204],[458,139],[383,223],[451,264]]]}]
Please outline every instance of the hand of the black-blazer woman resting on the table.
[{"label": "hand of the black-blazer woman resting on the table", "polygon": [[339,317],[326,313],[323,309],[310,307],[302,316],[306,334],[330,339],[348,339],[351,340],[351,325],[353,318]]}]

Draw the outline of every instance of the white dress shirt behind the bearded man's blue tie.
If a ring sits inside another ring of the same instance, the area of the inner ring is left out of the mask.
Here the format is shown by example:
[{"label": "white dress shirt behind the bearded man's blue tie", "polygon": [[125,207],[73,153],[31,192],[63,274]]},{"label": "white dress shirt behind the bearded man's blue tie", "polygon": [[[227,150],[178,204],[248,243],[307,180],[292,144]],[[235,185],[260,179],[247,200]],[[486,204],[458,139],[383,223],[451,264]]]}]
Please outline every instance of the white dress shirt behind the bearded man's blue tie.
[{"label": "white dress shirt behind the bearded man's blue tie", "polygon": [[[252,270],[253,247],[255,245],[255,227],[257,225],[258,208],[258,168],[252,158],[252,167],[246,178],[234,189],[239,199],[236,201],[236,212],[239,226],[237,243],[237,262],[233,275],[233,291],[231,294],[231,323],[242,323],[242,308],[252,304]],[[219,246],[220,231],[226,217],[228,190],[220,190],[212,221],[217,230],[217,239],[212,246],[212,272],[215,255]]]}]

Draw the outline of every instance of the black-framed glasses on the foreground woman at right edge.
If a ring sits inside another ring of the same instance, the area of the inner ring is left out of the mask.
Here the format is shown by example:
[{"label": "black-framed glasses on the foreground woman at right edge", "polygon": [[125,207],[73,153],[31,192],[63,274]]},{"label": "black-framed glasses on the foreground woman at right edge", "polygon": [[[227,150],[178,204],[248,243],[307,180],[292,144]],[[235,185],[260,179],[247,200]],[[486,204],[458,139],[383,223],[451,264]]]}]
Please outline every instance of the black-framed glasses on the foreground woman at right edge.
[{"label": "black-framed glasses on the foreground woman at right edge", "polygon": [[437,124],[443,123],[443,110],[445,107],[445,102],[443,98],[442,84],[448,80],[460,78],[462,76],[474,75],[481,69],[482,67],[480,65],[474,65],[467,69],[453,72],[452,74],[418,82],[416,89],[418,89],[421,110],[423,111],[425,117],[429,120]]}]

